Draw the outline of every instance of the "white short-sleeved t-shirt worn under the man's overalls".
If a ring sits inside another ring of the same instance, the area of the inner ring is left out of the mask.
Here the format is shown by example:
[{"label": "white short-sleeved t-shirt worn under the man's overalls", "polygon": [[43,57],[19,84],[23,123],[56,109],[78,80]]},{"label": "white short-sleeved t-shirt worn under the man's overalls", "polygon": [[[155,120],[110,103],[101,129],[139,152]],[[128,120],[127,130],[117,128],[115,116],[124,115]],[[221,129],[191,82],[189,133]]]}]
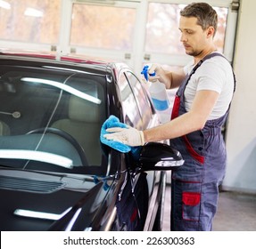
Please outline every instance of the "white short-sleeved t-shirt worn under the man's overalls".
[{"label": "white short-sleeved t-shirt worn under the man's overalls", "polygon": [[[194,61],[184,68],[187,74],[194,68]],[[191,76],[185,89],[185,107],[190,110],[195,93],[200,90],[211,90],[219,93],[219,98],[215,104],[209,120],[223,116],[234,92],[234,76],[229,62],[221,57],[215,56],[202,62]]]}]

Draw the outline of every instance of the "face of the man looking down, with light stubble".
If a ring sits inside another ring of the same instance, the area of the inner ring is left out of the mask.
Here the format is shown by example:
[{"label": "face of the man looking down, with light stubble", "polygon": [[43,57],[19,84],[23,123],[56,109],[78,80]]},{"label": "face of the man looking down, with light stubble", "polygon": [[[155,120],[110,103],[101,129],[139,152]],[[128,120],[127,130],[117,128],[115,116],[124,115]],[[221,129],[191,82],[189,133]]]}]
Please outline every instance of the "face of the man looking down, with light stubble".
[{"label": "face of the man looking down, with light stubble", "polygon": [[180,41],[184,45],[186,54],[198,56],[212,43],[214,28],[202,30],[195,17],[180,17]]}]

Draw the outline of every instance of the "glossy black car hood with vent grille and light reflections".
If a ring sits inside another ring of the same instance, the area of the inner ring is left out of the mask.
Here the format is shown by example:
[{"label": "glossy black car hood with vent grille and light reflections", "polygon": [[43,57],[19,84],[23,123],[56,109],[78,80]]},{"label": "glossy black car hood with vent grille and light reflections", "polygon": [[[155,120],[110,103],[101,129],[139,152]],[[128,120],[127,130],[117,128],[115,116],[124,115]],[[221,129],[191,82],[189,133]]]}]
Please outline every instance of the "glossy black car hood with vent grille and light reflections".
[{"label": "glossy black car hood with vent grille and light reflections", "polygon": [[0,229],[91,229],[112,179],[1,169]]}]

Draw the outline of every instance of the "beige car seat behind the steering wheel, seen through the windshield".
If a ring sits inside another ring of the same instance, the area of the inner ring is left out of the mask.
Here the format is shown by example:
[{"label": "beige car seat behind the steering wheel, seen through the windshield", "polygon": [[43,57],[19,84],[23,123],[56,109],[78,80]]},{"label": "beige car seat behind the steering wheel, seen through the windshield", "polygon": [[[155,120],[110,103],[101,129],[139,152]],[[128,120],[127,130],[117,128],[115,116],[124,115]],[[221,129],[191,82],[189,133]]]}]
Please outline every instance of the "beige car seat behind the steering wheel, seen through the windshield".
[{"label": "beige car seat behind the steering wheel, seen through the windshield", "polygon": [[101,164],[101,111],[99,104],[70,96],[68,118],[51,126],[69,133],[85,150],[89,165]]}]

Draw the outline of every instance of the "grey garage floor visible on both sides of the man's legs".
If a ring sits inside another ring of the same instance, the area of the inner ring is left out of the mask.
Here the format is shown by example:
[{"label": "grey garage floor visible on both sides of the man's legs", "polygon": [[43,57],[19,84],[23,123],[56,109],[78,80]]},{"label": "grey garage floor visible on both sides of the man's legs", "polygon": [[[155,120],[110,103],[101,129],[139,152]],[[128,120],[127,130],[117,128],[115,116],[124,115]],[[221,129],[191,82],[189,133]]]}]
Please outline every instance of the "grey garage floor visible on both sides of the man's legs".
[{"label": "grey garage floor visible on both sides of the man's legs", "polygon": [[[163,229],[169,231],[170,188],[165,195]],[[256,231],[256,195],[220,192],[219,207],[213,221],[214,231]]]}]

